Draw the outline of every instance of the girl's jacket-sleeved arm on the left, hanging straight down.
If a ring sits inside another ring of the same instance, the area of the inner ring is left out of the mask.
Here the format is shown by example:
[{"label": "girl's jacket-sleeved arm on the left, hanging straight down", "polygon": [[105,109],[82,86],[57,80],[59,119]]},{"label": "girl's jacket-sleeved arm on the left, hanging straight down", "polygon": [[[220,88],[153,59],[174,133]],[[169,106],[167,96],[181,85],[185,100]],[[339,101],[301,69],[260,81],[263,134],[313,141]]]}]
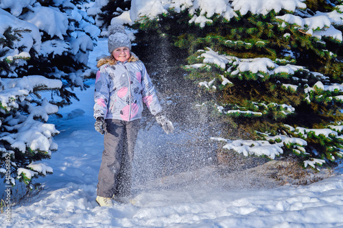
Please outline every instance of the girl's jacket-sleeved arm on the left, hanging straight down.
[{"label": "girl's jacket-sleeved arm on the left, hanging straight down", "polygon": [[94,118],[106,118],[108,99],[110,97],[110,81],[105,67],[100,67],[95,79]]}]

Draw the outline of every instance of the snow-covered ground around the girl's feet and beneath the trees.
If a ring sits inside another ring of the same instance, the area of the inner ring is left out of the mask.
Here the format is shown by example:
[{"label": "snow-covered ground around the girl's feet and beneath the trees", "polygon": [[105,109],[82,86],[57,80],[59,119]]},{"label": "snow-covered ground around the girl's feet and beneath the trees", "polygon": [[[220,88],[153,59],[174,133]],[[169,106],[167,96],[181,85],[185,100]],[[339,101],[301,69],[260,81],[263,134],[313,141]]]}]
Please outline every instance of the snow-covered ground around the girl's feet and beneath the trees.
[{"label": "snow-covered ground around the girl's feet and beneath the trees", "polygon": [[[91,65],[106,49],[100,40]],[[63,118],[49,118],[60,134],[58,151],[45,161],[54,173],[38,179],[45,189],[12,208],[11,223],[1,215],[1,227],[343,227],[342,170],[309,186],[282,187],[255,170],[224,176],[203,166],[163,175],[166,157],[192,156],[167,143],[182,140],[177,125],[173,136],[157,125],[139,132],[134,205],[99,207],[95,189],[103,142],[93,127],[94,81],[88,84],[86,91],[76,91],[80,101],[60,110]]]}]

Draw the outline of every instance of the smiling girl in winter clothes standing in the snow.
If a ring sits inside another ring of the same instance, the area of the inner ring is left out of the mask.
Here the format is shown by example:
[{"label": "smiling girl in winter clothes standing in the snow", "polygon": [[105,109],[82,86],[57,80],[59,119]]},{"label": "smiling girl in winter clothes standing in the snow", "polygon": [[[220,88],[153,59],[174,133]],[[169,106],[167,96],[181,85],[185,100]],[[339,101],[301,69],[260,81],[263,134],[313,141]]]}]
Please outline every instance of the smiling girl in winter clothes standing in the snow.
[{"label": "smiling girl in winter clothes standing in the snow", "polygon": [[134,144],[143,103],[166,134],[173,124],[161,114],[156,91],[143,62],[130,53],[131,42],[122,25],[108,27],[110,56],[97,62],[94,92],[95,129],[104,134],[96,201],[113,205],[112,199],[128,203],[131,191]]}]

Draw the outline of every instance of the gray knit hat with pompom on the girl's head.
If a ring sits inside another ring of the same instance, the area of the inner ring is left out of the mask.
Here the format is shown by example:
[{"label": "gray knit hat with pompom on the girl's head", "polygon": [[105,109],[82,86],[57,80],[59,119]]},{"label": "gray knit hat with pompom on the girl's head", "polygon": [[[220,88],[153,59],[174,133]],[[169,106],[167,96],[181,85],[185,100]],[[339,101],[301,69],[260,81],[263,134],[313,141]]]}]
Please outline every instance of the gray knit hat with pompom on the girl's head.
[{"label": "gray knit hat with pompom on the girl's head", "polygon": [[118,47],[128,47],[131,51],[131,41],[123,25],[108,26],[108,51],[112,54]]}]

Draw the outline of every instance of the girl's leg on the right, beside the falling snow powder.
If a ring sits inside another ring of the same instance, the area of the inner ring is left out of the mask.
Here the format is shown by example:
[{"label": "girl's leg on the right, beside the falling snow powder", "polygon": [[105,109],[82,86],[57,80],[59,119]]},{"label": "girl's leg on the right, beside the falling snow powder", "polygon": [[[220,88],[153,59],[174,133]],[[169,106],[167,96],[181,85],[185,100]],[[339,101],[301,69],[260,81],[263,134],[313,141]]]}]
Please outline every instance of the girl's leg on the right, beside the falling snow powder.
[{"label": "girl's leg on the right, beside the falling snow powder", "polygon": [[140,123],[140,120],[125,122],[123,154],[121,156],[121,167],[117,177],[118,182],[117,188],[115,189],[115,197],[130,196],[134,145],[136,144]]}]

